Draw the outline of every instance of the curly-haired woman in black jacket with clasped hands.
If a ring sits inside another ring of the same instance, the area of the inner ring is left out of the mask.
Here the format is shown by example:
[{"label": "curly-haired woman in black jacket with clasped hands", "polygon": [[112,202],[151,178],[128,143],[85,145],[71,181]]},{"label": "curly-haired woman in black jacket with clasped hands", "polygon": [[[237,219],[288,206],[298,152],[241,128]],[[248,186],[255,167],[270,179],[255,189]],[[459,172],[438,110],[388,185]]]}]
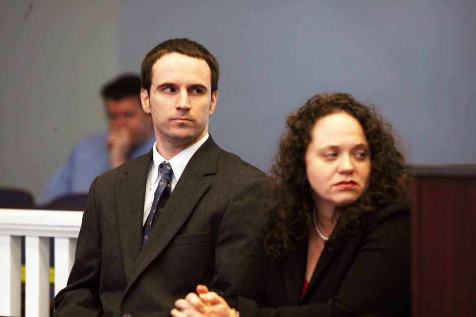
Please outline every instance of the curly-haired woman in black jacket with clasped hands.
[{"label": "curly-haired woman in black jacket with clasped hands", "polygon": [[268,221],[236,282],[225,299],[198,285],[172,315],[409,316],[409,182],[391,126],[342,93],[287,124]]}]

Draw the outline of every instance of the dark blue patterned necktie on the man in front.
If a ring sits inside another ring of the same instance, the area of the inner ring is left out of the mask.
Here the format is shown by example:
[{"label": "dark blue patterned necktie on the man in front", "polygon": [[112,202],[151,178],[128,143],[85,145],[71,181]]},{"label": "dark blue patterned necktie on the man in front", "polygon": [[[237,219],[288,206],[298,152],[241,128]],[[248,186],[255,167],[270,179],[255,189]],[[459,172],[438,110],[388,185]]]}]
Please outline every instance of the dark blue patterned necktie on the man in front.
[{"label": "dark blue patterned necktie on the man in front", "polygon": [[150,208],[149,216],[147,217],[147,222],[145,223],[144,228],[144,237],[142,239],[142,246],[147,242],[152,227],[154,226],[155,221],[159,217],[162,209],[164,208],[167,200],[169,199],[171,189],[170,182],[172,180],[172,167],[170,163],[163,162],[160,164],[159,173],[162,175],[159,180],[159,186],[154,194],[154,201],[152,202],[152,207]]}]

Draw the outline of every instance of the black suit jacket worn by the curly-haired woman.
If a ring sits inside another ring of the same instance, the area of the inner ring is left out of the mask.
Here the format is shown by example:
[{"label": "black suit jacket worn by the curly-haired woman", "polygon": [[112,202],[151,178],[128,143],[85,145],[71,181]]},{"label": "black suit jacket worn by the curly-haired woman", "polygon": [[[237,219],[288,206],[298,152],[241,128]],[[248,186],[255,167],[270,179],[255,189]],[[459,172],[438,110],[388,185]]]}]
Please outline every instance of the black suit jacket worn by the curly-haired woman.
[{"label": "black suit jacket worn by the curly-haired woman", "polygon": [[225,298],[240,317],[409,316],[408,203],[369,217],[340,248],[326,245],[302,300],[307,248],[283,261],[262,239]]}]

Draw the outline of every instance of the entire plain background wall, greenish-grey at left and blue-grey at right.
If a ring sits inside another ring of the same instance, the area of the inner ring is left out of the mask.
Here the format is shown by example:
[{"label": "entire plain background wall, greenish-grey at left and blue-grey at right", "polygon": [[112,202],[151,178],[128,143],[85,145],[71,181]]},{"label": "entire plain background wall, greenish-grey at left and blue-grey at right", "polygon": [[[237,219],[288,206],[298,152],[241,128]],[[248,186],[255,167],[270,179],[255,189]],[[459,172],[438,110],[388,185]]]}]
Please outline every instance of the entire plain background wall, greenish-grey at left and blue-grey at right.
[{"label": "entire plain background wall, greenish-grey at left and blue-grey at right", "polygon": [[476,163],[474,0],[3,1],[0,11],[2,186],[38,195],[73,143],[105,128],[101,84],[138,72],[173,37],[218,58],[210,131],[265,171],[285,116],[338,91],[375,104],[410,163]]}]

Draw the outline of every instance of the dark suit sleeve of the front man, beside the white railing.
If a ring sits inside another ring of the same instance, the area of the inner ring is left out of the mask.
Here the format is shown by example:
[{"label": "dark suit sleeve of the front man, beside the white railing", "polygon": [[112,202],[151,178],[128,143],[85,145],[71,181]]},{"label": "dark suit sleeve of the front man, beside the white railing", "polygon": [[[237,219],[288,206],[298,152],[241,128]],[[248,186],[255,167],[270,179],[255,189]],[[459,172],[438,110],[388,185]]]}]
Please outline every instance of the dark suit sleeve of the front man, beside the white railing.
[{"label": "dark suit sleeve of the front man, beside the white railing", "polygon": [[103,313],[99,299],[101,232],[95,201],[97,180],[89,190],[67,286],[55,297],[55,317],[102,316]]}]

